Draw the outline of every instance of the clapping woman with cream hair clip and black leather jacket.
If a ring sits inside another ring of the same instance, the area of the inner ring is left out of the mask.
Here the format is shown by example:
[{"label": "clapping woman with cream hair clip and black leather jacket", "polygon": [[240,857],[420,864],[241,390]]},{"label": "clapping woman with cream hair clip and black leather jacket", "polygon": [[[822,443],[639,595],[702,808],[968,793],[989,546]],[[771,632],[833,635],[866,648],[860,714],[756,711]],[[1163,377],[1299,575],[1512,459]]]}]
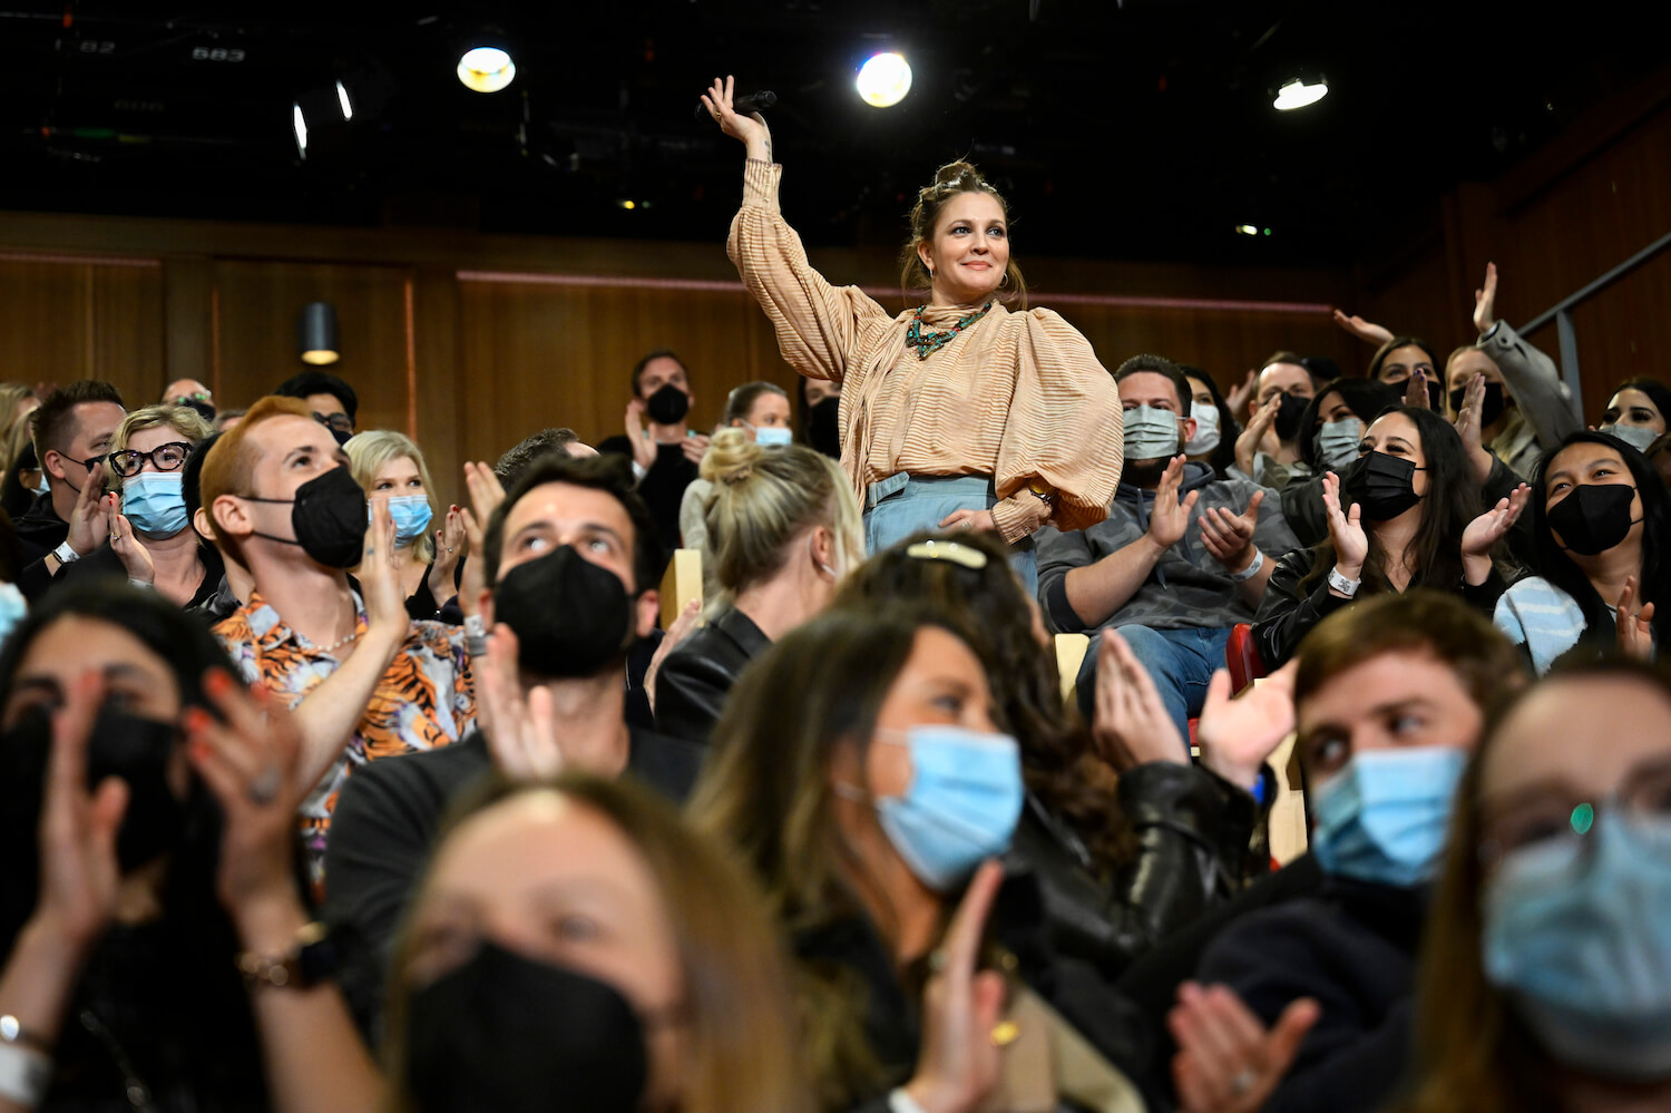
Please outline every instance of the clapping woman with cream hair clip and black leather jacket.
[{"label": "clapping woman with cream hair clip and black leather jacket", "polygon": [[[1148,675],[1116,635],[1088,732],[1064,714],[1038,605],[998,538],[907,538],[847,577],[832,605],[884,613],[922,605],[981,658],[998,714],[1021,747],[1026,785],[1006,862],[1038,879],[1059,953],[1118,973],[1228,899],[1243,877],[1265,872],[1260,809],[1248,790],[1288,727],[1218,729],[1213,707],[1211,722],[1201,720],[1201,764],[1191,765]],[[1268,682],[1262,699],[1278,687]]]}]

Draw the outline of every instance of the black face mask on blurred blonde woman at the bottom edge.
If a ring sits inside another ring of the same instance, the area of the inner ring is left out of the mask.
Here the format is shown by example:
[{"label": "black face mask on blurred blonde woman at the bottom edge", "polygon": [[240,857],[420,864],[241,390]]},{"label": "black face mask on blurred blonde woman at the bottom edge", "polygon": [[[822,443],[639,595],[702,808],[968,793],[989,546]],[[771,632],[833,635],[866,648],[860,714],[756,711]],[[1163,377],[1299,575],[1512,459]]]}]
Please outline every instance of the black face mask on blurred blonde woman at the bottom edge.
[{"label": "black face mask on blurred blonde woman at the bottom edge", "polygon": [[493,943],[411,996],[419,1113],[632,1113],[648,1076],[643,1023],[613,986]]}]

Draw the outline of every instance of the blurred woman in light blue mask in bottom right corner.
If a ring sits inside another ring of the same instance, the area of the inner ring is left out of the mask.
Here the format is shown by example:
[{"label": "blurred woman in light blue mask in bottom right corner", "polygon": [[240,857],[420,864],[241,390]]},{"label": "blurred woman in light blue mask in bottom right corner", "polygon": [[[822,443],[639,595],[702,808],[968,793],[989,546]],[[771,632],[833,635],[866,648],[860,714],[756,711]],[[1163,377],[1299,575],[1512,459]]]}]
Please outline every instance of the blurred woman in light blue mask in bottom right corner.
[{"label": "blurred woman in light blue mask in bottom right corner", "polygon": [[1481,745],[1434,886],[1399,1113],[1671,1106],[1671,678],[1559,668]]}]

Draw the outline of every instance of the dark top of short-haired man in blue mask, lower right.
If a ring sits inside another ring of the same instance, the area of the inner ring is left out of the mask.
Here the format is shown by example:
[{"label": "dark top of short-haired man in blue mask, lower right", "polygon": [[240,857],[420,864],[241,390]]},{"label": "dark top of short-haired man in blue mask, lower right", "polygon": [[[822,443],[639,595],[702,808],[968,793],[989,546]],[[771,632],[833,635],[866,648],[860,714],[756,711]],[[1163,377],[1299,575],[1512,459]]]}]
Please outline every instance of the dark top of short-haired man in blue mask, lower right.
[{"label": "dark top of short-haired man in blue mask, lower right", "polygon": [[1370,1113],[1397,1096],[1410,1053],[1427,889],[1327,877],[1313,897],[1255,912],[1201,959],[1265,1024],[1300,998],[1322,1016],[1265,1113]]}]

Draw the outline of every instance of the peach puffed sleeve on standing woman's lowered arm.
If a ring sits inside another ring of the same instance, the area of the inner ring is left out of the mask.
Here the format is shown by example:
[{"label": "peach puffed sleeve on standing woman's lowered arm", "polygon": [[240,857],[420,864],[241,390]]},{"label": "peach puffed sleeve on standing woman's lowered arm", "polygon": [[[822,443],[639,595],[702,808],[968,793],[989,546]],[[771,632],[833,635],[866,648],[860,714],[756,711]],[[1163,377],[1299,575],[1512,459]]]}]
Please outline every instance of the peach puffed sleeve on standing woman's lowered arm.
[{"label": "peach puffed sleeve on standing woman's lowered arm", "polygon": [[1056,490],[1049,523],[1083,530],[1108,516],[1120,486],[1120,389],[1079,329],[1049,309],[1031,311],[1026,324],[998,446],[998,498],[1028,495],[1028,485],[1041,481]]}]

